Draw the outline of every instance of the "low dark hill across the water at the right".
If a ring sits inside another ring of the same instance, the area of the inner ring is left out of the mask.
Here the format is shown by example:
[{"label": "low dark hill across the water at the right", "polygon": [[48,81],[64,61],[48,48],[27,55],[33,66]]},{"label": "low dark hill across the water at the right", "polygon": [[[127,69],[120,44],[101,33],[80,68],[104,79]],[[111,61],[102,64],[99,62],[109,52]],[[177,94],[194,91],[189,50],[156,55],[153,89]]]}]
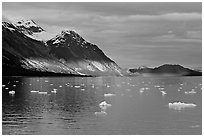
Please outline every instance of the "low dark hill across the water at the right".
[{"label": "low dark hill across the water at the right", "polygon": [[131,73],[139,73],[143,75],[163,75],[163,76],[202,76],[202,72],[184,68],[181,65],[164,64],[156,68],[136,68],[129,69]]}]

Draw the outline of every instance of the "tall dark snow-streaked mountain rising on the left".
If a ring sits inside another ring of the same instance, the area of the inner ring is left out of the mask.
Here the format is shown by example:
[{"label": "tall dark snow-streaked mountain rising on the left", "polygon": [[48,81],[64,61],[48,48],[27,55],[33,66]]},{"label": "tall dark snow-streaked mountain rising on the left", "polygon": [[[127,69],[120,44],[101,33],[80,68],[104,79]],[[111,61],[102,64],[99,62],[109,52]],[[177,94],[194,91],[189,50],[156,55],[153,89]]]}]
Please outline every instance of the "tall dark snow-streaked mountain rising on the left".
[{"label": "tall dark snow-streaked mountain rising on the left", "polygon": [[121,68],[98,46],[64,30],[49,40],[33,20],[2,23],[3,75],[122,75]]}]

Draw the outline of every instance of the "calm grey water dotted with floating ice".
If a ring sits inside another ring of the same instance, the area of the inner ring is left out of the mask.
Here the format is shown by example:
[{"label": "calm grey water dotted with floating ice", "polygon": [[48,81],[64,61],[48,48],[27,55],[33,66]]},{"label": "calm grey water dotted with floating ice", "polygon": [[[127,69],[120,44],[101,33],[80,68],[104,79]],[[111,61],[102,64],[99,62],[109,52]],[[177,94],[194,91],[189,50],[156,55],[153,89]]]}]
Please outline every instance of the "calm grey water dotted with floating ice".
[{"label": "calm grey water dotted with floating ice", "polygon": [[2,133],[202,134],[201,87],[202,77],[3,77]]}]

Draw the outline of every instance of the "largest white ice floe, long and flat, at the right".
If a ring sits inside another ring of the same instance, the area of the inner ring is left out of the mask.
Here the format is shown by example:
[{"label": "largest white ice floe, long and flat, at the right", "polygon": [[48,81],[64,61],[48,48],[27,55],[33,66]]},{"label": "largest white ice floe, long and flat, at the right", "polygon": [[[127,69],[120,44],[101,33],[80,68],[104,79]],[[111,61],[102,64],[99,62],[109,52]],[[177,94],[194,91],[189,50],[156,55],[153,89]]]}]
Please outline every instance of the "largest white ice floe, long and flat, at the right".
[{"label": "largest white ice floe, long and flat, at the right", "polygon": [[194,108],[194,107],[196,107],[196,104],[184,103],[184,102],[169,103],[169,108],[174,110],[182,110],[184,108]]}]

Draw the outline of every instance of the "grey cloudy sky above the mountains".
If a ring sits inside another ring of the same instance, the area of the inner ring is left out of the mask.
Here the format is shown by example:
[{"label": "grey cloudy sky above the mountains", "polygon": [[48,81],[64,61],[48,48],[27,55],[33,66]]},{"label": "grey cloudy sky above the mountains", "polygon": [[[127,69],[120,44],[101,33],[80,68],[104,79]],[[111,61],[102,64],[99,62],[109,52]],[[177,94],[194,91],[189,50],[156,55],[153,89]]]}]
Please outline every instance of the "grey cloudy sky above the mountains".
[{"label": "grey cloudy sky above the mountains", "polygon": [[122,68],[202,67],[202,3],[2,3],[2,21],[33,19],[48,32],[75,30]]}]

